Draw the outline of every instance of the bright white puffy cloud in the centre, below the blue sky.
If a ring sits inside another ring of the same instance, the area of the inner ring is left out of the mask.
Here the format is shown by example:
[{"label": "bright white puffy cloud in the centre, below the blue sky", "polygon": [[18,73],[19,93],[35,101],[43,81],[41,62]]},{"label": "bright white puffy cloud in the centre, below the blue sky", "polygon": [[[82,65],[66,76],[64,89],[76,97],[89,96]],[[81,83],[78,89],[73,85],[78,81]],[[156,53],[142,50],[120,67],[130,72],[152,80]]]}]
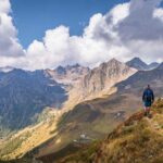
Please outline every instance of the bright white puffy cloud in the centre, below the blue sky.
[{"label": "bright white puffy cloud in the centre, below the blue sky", "polygon": [[[121,15],[117,14],[118,11]],[[120,45],[113,28],[127,13],[128,3],[118,4],[106,15],[95,14],[82,36],[70,36],[70,29],[65,26],[47,30],[42,41],[35,40],[27,49],[26,58],[30,68],[46,68],[47,65],[54,67],[76,62],[92,67],[113,57],[124,58],[129,51]]]}]

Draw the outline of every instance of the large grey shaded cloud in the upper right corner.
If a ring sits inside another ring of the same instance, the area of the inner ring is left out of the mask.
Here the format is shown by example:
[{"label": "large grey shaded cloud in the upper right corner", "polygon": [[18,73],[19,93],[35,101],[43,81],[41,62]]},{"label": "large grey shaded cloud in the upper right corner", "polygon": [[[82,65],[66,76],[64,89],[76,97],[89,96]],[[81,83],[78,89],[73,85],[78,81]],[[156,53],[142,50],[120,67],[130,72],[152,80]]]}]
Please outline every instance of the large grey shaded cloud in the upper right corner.
[{"label": "large grey shaded cloud in the upper right corner", "polygon": [[129,14],[117,27],[123,46],[148,62],[162,61],[163,9],[162,0],[133,0]]}]

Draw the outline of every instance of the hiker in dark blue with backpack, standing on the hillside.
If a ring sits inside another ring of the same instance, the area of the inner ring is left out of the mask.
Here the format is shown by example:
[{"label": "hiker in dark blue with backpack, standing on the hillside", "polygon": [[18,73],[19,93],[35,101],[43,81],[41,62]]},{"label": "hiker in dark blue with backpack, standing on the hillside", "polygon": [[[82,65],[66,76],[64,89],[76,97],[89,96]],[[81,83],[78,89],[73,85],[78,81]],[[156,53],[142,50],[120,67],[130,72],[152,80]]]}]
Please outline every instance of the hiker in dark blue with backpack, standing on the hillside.
[{"label": "hiker in dark blue with backpack, standing on the hillside", "polygon": [[143,91],[142,101],[145,103],[145,116],[150,115],[150,109],[152,103],[154,102],[154,93],[150,88],[150,85],[148,85],[148,87]]}]

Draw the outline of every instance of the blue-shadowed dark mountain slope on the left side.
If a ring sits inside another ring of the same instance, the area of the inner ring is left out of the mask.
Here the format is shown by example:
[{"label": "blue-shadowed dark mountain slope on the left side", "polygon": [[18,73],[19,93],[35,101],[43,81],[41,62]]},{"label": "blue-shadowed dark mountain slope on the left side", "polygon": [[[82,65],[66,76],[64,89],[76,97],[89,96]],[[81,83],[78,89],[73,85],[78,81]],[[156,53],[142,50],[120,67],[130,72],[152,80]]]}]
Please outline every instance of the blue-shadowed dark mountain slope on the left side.
[{"label": "blue-shadowed dark mountain slope on the left side", "polygon": [[0,74],[0,134],[37,122],[46,106],[60,108],[67,99],[63,86],[43,71],[13,70]]}]

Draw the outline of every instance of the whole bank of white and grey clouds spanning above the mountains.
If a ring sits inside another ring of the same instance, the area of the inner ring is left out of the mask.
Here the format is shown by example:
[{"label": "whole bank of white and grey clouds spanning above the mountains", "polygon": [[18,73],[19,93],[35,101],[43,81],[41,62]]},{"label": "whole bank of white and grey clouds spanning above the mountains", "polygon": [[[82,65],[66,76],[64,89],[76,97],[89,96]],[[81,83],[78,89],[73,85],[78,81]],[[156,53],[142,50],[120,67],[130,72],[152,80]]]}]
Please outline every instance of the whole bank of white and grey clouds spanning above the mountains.
[{"label": "whole bank of white and grey clouds spanning above the mountains", "polygon": [[10,2],[0,0],[0,66],[36,70],[78,62],[92,67],[111,58],[126,61],[133,57],[162,61],[161,1],[131,0],[117,4],[105,15],[92,15],[82,36],[71,36],[70,28],[61,25],[48,29],[41,41],[34,40],[23,50],[10,16]]}]

